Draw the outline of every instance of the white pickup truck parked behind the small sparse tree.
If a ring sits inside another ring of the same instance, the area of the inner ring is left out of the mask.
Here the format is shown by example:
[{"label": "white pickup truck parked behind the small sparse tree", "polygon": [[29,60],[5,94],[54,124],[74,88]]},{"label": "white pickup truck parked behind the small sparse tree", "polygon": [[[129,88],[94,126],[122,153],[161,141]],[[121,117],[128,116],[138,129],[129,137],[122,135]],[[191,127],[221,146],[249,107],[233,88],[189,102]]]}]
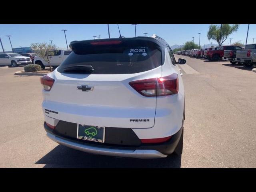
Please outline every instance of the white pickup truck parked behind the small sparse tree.
[{"label": "white pickup truck parked behind the small sparse tree", "polygon": [[[58,67],[67,57],[68,55],[72,52],[71,49],[55,49],[55,50],[51,50],[53,52],[52,54],[52,58],[50,61],[50,65],[53,68]],[[41,66],[41,68],[45,68],[46,66],[48,66],[48,63],[41,57],[36,56],[34,58],[34,64],[38,64]]]}]

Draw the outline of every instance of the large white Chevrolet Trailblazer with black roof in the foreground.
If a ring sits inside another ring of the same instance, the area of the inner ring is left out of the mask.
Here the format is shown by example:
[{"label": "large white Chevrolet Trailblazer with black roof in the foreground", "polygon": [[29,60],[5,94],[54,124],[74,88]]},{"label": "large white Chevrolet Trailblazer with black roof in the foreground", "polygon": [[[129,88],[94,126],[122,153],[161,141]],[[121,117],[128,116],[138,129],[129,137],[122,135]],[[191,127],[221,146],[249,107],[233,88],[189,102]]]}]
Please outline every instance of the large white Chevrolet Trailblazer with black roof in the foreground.
[{"label": "large white Chevrolet Trailblazer with black roof in the foreground", "polygon": [[182,154],[184,86],[160,37],[73,41],[42,76],[47,136],[84,152],[163,158]]}]

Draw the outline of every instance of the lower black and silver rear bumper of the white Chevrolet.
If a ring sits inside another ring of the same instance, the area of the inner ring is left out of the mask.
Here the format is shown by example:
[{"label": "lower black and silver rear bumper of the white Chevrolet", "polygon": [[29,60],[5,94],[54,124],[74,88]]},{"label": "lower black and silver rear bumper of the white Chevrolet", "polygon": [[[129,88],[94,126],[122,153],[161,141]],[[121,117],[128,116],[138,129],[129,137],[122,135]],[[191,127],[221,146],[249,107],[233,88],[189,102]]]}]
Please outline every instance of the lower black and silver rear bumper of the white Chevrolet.
[{"label": "lower black and silver rear bumper of the white Chevrolet", "polygon": [[[127,157],[127,158],[141,158],[141,159],[152,159],[152,158],[164,158],[169,154],[172,154],[180,141],[180,136],[183,130],[182,128],[174,134],[170,140],[160,144],[137,144],[136,146],[131,145],[118,145],[110,143],[98,143],[91,141],[84,141],[77,138],[66,137],[63,134],[58,134],[53,129],[49,128],[44,123],[46,135],[51,140],[62,144],[64,146],[88,152],[92,154],[100,154],[107,156]],[[122,129],[122,128],[120,128]],[[125,128],[126,129],[126,128]],[[118,137],[118,135],[117,135]]]}]

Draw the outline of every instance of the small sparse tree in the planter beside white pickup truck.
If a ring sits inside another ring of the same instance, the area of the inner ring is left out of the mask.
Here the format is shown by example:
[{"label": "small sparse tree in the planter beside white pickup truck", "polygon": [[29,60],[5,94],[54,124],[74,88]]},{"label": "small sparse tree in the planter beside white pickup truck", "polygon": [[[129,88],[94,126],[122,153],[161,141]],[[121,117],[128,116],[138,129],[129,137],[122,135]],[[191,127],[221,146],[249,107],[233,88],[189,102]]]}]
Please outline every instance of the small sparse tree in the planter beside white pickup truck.
[{"label": "small sparse tree in the planter beside white pickup truck", "polygon": [[52,71],[50,62],[51,62],[51,58],[54,55],[54,51],[52,51],[52,49],[56,49],[56,45],[53,44],[49,44],[49,43],[32,43],[30,45],[30,47],[32,48],[32,50],[34,50],[34,52],[36,54],[38,54],[38,56],[40,56],[41,58],[43,58],[49,65],[50,67],[50,71]]}]

